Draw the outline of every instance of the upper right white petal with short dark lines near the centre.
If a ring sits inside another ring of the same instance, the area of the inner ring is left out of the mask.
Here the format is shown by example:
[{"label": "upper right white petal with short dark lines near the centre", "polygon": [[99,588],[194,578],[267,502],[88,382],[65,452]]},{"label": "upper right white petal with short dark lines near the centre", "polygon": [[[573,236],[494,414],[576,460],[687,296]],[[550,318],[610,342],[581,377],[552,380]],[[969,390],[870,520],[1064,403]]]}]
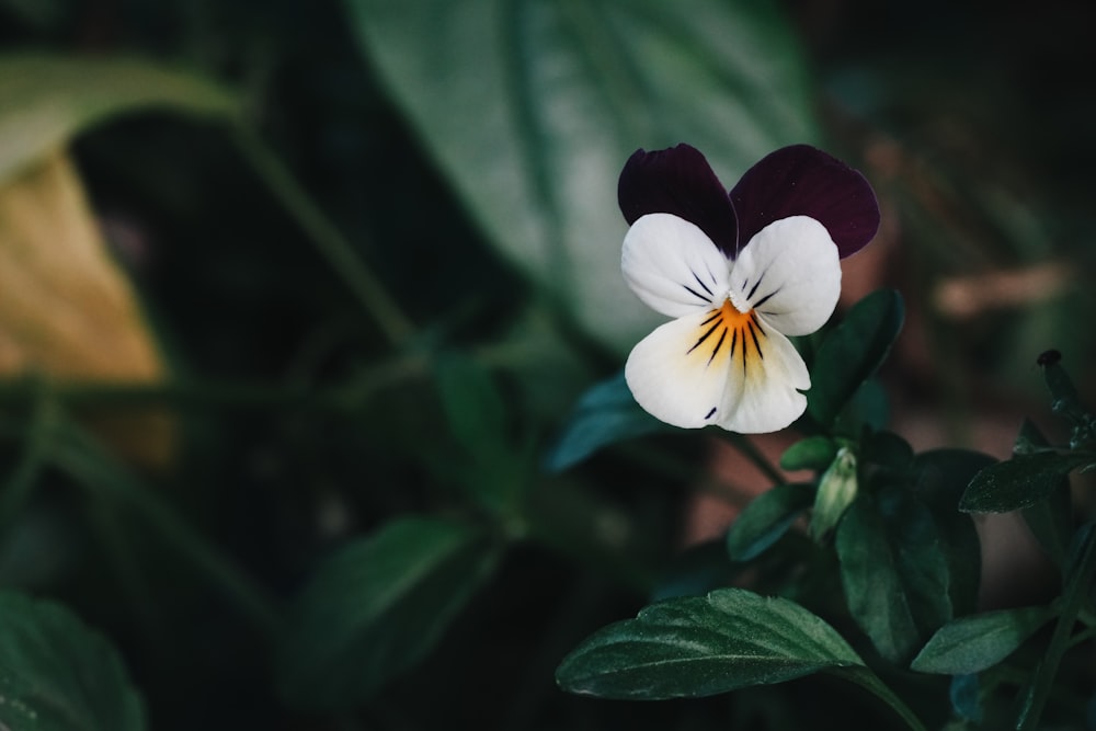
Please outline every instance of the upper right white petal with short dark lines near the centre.
[{"label": "upper right white petal with short dark lines near the centre", "polygon": [[837,247],[813,218],[775,220],[734,260],[731,293],[735,305],[756,309],[786,335],[814,332],[833,315],[841,295]]}]

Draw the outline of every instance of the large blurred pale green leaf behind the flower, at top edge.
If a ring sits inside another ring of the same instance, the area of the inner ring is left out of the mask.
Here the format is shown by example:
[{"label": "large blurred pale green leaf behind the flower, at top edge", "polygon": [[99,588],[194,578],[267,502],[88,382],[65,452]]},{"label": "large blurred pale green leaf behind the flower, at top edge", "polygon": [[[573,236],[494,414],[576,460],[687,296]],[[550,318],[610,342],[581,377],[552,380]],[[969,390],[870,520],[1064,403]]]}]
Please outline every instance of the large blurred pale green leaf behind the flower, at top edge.
[{"label": "large blurred pale green leaf behind the flower, at top edge", "polygon": [[353,31],[488,238],[624,352],[662,318],[620,276],[617,176],[687,141],[730,187],[818,134],[772,0],[346,0]]}]

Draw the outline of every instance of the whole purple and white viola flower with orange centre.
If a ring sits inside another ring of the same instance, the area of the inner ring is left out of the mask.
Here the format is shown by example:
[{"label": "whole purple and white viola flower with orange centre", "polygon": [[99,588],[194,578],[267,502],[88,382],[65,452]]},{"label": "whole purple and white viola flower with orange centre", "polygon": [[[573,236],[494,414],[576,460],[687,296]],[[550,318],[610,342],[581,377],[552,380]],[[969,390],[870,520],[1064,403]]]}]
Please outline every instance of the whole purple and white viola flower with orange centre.
[{"label": "whole purple and white viola flower with orange centre", "polygon": [[775,432],[807,409],[807,366],[788,335],[821,328],[840,259],[879,228],[865,178],[808,145],[779,149],[728,194],[688,145],[637,150],[620,173],[632,292],[675,318],[641,340],[625,379],[674,426]]}]

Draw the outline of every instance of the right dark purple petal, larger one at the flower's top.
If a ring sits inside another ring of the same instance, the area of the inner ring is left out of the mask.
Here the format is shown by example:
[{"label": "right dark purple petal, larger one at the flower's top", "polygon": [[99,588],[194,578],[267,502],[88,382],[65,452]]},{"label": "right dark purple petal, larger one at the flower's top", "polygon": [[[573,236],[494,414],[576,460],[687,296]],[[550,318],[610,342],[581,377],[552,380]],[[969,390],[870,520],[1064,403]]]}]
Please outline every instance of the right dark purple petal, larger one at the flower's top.
[{"label": "right dark purple petal, larger one at the flower's top", "polygon": [[775,220],[810,216],[830,231],[844,259],[879,228],[879,203],[864,175],[809,145],[763,158],[731,191],[731,202],[742,245]]}]

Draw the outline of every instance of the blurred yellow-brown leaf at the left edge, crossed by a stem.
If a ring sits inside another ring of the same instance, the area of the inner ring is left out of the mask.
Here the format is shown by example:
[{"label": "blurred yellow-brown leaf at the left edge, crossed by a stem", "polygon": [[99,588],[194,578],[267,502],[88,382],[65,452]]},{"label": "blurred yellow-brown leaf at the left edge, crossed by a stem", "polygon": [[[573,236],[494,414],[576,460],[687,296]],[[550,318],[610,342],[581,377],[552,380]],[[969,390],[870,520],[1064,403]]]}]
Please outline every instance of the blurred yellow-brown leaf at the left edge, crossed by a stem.
[{"label": "blurred yellow-brown leaf at the left edge, crossed by a stem", "polygon": [[[0,377],[156,384],[165,372],[68,156],[55,150],[0,182]],[[162,410],[88,416],[123,456],[170,460],[173,423]]]}]

